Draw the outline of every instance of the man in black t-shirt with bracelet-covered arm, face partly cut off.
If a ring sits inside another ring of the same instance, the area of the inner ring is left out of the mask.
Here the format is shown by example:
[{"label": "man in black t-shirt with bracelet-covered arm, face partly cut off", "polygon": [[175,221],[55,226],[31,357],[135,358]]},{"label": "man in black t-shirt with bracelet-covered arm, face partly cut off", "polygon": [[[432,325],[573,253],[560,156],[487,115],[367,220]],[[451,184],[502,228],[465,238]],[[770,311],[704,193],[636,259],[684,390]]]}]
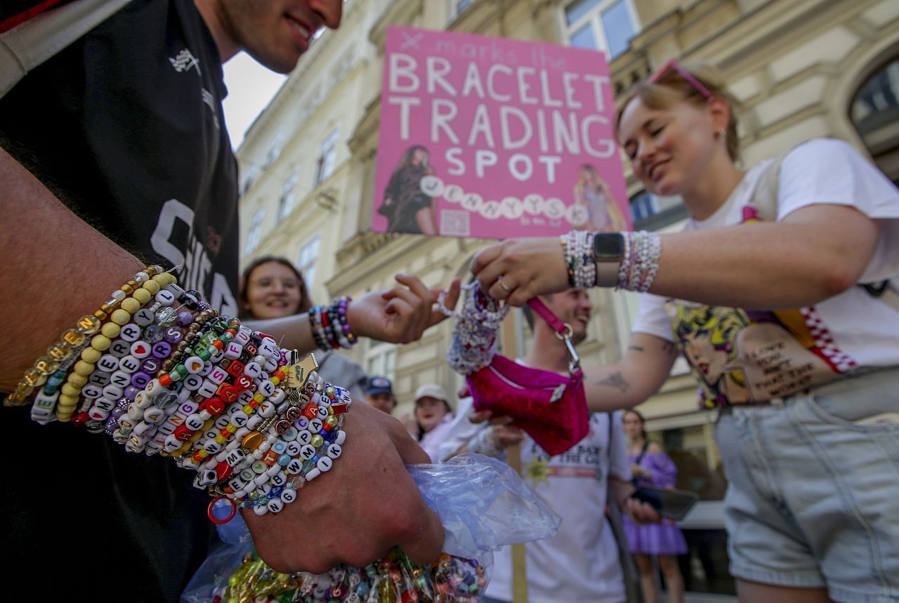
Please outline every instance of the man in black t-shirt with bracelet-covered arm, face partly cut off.
[{"label": "man in black t-shirt with bracelet-covered arm, face partly cut off", "polygon": [[[183,265],[182,283],[236,314],[236,162],[221,62],[246,49],[288,72],[319,27],[339,24],[342,4],[133,0],[0,99],[0,392],[147,262]],[[352,302],[356,333],[413,341],[439,320],[434,292],[397,280]],[[314,348],[305,315],[256,328]],[[27,408],[4,408],[0,421],[4,595],[176,600],[214,542],[209,498],[190,472],[102,434],[39,426]],[[320,572],[402,545],[430,561],[442,528],[404,467],[427,457],[365,404],[345,430],[329,475],[277,515],[246,516],[263,558]]]}]

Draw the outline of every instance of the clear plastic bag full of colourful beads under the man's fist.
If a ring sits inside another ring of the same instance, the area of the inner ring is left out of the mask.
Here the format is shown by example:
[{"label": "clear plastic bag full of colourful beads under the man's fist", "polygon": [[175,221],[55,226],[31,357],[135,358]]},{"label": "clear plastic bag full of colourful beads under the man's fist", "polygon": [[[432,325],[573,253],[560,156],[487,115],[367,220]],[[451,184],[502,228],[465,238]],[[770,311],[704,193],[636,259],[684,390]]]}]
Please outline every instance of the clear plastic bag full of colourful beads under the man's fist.
[{"label": "clear plastic bag full of colourful beads under the man's fist", "polygon": [[226,545],[200,566],[182,602],[475,603],[489,577],[492,551],[556,534],[558,516],[495,458],[467,453],[442,465],[409,466],[409,472],[446,529],[444,553],[430,566],[416,565],[394,549],[364,568],[275,572],[255,554],[249,530],[236,516],[218,527]]}]

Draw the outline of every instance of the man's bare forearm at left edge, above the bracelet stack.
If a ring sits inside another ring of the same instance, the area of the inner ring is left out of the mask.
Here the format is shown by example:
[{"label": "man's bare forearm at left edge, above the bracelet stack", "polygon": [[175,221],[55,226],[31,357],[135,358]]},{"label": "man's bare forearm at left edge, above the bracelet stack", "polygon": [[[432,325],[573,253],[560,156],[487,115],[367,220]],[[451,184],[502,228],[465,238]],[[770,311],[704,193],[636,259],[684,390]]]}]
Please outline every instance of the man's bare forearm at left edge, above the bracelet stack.
[{"label": "man's bare forearm at left edge, above the bracelet stack", "polygon": [[144,267],[0,149],[0,391]]}]

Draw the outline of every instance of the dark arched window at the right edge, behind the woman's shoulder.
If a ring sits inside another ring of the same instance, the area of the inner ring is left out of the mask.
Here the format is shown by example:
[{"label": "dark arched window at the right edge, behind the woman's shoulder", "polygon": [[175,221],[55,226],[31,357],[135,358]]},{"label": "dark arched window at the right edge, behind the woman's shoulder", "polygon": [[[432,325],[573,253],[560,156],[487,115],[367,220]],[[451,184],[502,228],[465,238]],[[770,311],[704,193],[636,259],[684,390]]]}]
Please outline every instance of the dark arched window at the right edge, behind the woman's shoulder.
[{"label": "dark arched window at the right edge, behind the woman's shoulder", "polygon": [[877,167],[899,183],[899,56],[861,84],[852,97],[850,120]]}]

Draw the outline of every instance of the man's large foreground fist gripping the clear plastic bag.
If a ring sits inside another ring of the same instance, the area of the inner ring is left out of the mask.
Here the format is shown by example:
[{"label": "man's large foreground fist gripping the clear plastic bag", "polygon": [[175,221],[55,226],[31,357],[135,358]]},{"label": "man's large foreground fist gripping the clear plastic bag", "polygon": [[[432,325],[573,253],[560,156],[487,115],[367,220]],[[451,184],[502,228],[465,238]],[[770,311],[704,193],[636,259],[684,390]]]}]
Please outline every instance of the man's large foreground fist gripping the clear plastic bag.
[{"label": "man's large foreground fist gripping the clear plastic bag", "polygon": [[338,563],[362,567],[398,545],[414,563],[431,563],[443,527],[405,465],[431,459],[399,421],[355,403],[343,424],[334,468],[298,490],[280,513],[242,511],[254,545],[278,572],[324,573]]}]

